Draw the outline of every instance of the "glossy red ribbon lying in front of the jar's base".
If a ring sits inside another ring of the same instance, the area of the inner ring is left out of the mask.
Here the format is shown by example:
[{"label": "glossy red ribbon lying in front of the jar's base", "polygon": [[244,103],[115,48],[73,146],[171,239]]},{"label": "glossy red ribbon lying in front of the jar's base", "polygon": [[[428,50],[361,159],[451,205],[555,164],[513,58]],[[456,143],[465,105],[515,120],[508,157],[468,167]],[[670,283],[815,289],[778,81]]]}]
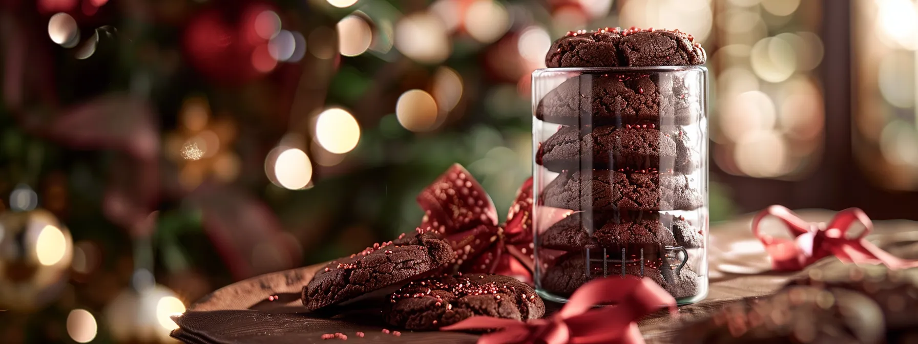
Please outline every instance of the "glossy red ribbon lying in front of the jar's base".
[{"label": "glossy red ribbon lying in front of the jar's base", "polygon": [[[593,308],[594,305],[614,307]],[[676,313],[676,299],[653,280],[636,277],[598,278],[583,284],[554,316],[528,322],[473,316],[441,330],[502,331],[478,338],[478,344],[644,343],[636,321],[662,306]]]}]

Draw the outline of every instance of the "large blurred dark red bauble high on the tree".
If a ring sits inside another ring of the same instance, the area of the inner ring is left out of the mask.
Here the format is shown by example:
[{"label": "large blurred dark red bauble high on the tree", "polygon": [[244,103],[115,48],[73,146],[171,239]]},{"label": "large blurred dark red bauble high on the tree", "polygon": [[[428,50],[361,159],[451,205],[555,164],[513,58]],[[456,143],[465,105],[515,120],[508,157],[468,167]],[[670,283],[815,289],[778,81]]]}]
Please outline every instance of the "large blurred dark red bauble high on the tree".
[{"label": "large blurred dark red bauble high on the tree", "polygon": [[274,24],[266,17],[276,17],[273,7],[257,3],[202,11],[185,28],[187,60],[217,83],[245,83],[270,72],[277,61],[267,53]]}]

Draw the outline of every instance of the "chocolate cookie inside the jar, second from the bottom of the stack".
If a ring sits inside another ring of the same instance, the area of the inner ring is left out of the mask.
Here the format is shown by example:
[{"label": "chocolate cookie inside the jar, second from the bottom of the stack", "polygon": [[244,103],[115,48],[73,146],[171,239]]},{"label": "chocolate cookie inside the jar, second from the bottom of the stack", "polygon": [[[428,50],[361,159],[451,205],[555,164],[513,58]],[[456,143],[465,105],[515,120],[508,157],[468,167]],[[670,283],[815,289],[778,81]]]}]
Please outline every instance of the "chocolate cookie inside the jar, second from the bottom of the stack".
[{"label": "chocolate cookie inside the jar, second from the bottom of the stack", "polygon": [[668,214],[578,212],[548,227],[539,235],[539,241],[544,248],[567,251],[618,248],[626,244],[693,249],[703,246],[704,238],[689,221]]}]

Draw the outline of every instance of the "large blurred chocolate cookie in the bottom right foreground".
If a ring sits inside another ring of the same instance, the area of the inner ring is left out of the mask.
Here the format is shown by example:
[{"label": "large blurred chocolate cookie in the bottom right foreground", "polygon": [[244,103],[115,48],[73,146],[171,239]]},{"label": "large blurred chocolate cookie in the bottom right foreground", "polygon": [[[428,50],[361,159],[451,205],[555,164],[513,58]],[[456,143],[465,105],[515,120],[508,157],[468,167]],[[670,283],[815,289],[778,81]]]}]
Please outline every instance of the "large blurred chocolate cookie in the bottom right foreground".
[{"label": "large blurred chocolate cookie in the bottom right foreground", "polygon": [[682,344],[882,343],[883,315],[864,294],[794,286],[722,306],[672,338]]}]

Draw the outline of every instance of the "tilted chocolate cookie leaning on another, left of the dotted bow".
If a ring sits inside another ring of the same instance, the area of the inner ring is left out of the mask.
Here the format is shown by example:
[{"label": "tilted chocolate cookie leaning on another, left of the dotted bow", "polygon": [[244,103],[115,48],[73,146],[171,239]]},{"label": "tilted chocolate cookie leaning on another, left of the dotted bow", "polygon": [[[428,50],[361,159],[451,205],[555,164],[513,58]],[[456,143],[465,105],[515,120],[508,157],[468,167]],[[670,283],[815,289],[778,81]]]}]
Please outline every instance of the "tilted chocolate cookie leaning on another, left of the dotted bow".
[{"label": "tilted chocolate cookie leaning on another, left of the dotted bow", "polygon": [[308,310],[335,305],[432,272],[455,257],[449,243],[433,233],[376,244],[372,248],[331,261],[303,287]]}]

